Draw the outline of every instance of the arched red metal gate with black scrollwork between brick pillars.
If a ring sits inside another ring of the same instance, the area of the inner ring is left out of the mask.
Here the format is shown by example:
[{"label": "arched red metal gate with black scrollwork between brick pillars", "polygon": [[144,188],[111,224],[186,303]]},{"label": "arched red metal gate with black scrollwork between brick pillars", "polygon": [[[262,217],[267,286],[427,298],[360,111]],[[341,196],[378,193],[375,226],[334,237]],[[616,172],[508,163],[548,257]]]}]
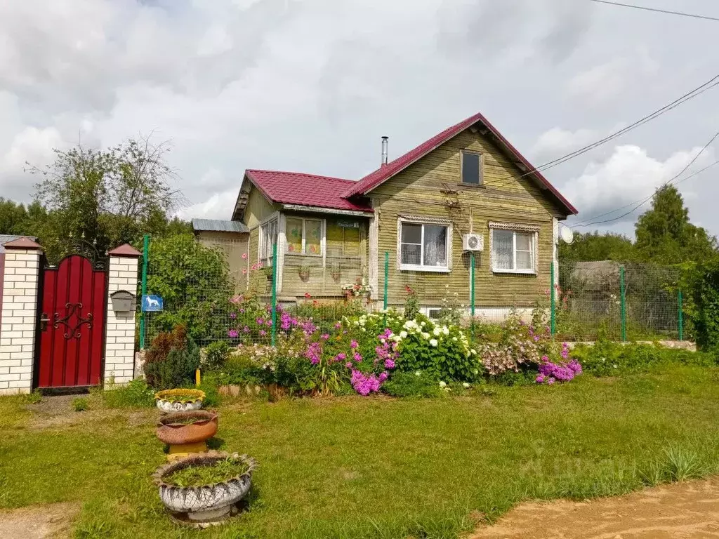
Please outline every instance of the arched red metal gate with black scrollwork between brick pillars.
[{"label": "arched red metal gate with black scrollwork between brick pillars", "polygon": [[37,387],[97,385],[101,379],[107,285],[78,254],[44,270]]}]

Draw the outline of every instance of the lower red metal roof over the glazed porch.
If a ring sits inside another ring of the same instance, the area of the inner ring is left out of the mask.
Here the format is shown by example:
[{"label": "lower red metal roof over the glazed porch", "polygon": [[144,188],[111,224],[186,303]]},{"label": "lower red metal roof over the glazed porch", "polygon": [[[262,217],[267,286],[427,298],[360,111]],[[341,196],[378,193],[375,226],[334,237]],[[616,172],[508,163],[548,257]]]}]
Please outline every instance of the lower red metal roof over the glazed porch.
[{"label": "lower red metal roof over the glazed porch", "polygon": [[372,212],[370,206],[343,198],[352,180],[277,170],[246,170],[245,174],[273,202]]}]

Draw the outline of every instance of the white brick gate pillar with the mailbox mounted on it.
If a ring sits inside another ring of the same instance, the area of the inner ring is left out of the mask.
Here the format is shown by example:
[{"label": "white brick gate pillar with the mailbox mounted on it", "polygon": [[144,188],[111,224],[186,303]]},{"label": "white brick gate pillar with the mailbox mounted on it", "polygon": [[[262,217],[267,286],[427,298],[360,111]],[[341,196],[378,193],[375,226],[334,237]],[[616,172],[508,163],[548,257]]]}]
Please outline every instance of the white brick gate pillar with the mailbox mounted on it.
[{"label": "white brick gate pillar with the mailbox mounted on it", "polygon": [[137,267],[142,253],[125,244],[109,253],[107,287],[107,328],[105,337],[105,383],[129,382],[134,377],[135,313],[116,313],[112,308],[113,292],[137,293]]}]

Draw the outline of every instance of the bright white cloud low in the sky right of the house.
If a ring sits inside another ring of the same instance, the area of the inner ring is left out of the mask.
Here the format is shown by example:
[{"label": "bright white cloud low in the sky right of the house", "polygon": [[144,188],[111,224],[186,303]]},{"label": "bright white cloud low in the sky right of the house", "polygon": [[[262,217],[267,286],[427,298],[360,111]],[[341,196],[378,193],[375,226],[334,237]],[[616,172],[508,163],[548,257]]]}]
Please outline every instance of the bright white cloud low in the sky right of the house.
[{"label": "bright white cloud low in the sky right of the house", "polygon": [[[581,222],[594,221],[595,216],[627,206],[596,220],[616,218],[631,210],[636,205],[633,203],[649,197],[656,188],[679,174],[700,150],[700,147],[696,147],[675,152],[667,160],[661,161],[650,157],[646,149],[638,146],[618,146],[608,160],[591,162],[579,178],[569,181],[564,188],[564,195],[579,209]],[[695,164],[677,180],[710,164],[715,160],[713,156],[711,149],[703,152]],[[637,215],[631,213],[620,221],[633,221]]]}]

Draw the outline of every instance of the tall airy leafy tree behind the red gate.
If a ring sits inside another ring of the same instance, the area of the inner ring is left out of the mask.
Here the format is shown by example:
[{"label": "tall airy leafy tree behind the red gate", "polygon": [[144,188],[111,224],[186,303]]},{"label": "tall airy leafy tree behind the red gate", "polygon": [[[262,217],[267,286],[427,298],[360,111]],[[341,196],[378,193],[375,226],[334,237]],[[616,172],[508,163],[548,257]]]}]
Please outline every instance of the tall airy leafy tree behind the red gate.
[{"label": "tall airy leafy tree behind the red gate", "polygon": [[[67,240],[82,238],[98,252],[122,243],[139,244],[142,234],[168,229],[168,213],[182,200],[170,187],[175,178],[165,162],[166,143],[155,146],[147,138],[128,139],[109,149],[82,144],[61,151],[55,162],[29,172],[42,176],[35,199],[47,216],[34,225],[50,259],[68,249]],[[177,220],[173,222],[175,229]]]}]

